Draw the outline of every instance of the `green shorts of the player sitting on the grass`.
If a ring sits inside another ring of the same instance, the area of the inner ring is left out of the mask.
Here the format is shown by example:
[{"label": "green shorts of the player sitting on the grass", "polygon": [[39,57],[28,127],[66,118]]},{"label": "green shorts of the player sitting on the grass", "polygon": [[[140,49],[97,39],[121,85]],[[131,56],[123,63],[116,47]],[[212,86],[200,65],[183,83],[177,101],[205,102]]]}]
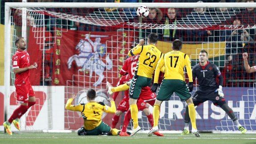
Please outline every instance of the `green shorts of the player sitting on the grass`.
[{"label": "green shorts of the player sitting on the grass", "polygon": [[87,131],[88,136],[98,136],[100,135],[102,132],[110,132],[111,128],[109,127],[108,124],[104,123],[104,121],[102,121],[100,123],[99,126],[97,126],[96,128]]}]

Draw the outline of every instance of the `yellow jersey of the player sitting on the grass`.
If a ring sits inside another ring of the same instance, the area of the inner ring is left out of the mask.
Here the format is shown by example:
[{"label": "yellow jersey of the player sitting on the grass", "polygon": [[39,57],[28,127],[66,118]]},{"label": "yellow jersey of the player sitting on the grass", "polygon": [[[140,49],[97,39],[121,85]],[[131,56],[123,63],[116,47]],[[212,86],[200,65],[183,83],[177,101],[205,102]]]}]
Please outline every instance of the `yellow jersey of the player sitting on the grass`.
[{"label": "yellow jersey of the player sitting on the grass", "polygon": [[73,99],[68,99],[65,108],[67,110],[81,112],[84,118],[84,128],[86,130],[92,130],[100,125],[103,112],[116,112],[116,104],[113,100],[111,100],[111,107],[102,102],[88,102],[87,104],[72,105],[72,101]]}]

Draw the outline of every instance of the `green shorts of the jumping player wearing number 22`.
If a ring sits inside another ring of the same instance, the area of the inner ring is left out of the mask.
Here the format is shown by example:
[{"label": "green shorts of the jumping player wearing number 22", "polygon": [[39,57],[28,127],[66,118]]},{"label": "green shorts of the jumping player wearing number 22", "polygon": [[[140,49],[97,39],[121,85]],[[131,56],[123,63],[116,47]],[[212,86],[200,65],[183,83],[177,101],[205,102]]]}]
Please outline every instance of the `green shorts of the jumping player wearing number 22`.
[{"label": "green shorts of the jumping player wearing number 22", "polygon": [[137,100],[140,96],[141,88],[151,86],[151,82],[151,78],[134,75],[129,88],[129,97]]}]

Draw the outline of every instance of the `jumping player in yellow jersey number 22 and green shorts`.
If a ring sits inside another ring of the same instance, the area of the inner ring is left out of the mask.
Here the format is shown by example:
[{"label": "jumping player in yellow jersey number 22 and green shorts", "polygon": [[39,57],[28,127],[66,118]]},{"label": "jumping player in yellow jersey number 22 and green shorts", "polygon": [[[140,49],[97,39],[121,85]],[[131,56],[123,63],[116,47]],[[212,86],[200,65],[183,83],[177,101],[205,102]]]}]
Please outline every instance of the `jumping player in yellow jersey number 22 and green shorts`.
[{"label": "jumping player in yellow jersey number 22 and green shorts", "polygon": [[128,52],[128,56],[139,54],[135,75],[132,78],[132,83],[129,88],[129,104],[133,120],[131,136],[140,131],[140,126],[138,125],[138,107],[136,103],[140,96],[141,88],[151,86],[156,64],[162,56],[162,52],[156,48],[157,40],[158,35],[156,33],[151,33],[148,35],[148,45],[144,45],[145,40],[141,39],[140,44]]}]

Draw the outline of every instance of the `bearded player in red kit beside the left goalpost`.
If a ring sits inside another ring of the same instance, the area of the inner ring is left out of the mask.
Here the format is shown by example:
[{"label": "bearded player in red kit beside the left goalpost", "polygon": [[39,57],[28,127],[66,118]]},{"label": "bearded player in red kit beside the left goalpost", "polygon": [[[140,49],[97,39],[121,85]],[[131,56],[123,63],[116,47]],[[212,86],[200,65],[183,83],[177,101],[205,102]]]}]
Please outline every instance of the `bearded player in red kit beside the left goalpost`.
[{"label": "bearded player in red kit beside the left goalpost", "polygon": [[27,112],[28,108],[36,104],[35,92],[29,81],[29,69],[36,69],[37,64],[30,64],[30,57],[25,49],[27,43],[24,37],[17,37],[15,40],[17,52],[12,56],[12,69],[15,73],[16,99],[20,106],[14,110],[12,116],[4,122],[4,128],[9,135],[12,135],[11,124],[20,130],[20,117]]}]

